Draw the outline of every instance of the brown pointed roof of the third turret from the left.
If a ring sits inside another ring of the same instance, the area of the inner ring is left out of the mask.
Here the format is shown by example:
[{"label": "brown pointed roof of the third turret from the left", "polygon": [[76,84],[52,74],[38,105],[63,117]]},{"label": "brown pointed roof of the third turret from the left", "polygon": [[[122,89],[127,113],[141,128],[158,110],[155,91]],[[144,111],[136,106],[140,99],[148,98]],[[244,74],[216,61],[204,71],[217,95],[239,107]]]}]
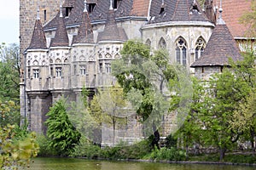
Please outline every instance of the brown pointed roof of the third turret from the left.
[{"label": "brown pointed roof of the third turret from the left", "polygon": [[79,33],[73,43],[94,43],[88,12],[83,12],[82,14],[82,23],[79,26]]}]

